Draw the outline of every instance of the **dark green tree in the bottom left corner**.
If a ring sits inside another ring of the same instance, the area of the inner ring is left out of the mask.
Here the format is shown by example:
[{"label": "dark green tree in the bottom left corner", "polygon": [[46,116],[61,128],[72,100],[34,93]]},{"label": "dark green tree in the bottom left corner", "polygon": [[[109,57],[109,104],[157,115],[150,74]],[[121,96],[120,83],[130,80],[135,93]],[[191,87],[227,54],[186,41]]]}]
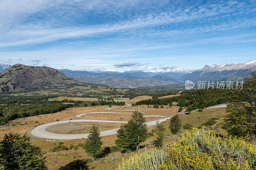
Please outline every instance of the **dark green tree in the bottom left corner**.
[{"label": "dark green tree in the bottom left corner", "polygon": [[0,141],[0,168],[6,170],[46,170],[41,149],[20,134],[5,134]]}]

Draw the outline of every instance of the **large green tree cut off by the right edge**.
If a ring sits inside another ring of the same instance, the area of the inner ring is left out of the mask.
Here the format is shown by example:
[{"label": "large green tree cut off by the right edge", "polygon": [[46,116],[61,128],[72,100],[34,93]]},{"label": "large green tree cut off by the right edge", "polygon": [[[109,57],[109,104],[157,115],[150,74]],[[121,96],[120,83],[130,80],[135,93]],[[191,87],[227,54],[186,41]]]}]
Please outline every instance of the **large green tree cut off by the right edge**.
[{"label": "large green tree cut off by the right edge", "polygon": [[234,90],[242,99],[228,105],[225,122],[230,135],[256,134],[256,73],[248,74],[243,89]]}]

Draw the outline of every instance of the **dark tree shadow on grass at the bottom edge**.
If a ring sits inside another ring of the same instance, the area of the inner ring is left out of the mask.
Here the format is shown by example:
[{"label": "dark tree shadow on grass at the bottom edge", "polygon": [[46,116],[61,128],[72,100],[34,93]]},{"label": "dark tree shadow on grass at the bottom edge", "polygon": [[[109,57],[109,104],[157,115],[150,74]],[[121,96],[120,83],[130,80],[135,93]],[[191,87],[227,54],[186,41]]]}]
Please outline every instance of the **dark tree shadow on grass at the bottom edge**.
[{"label": "dark tree shadow on grass at the bottom edge", "polygon": [[88,170],[89,166],[87,165],[88,159],[87,160],[74,160],[70,162],[69,164],[62,166],[59,168],[59,170]]}]

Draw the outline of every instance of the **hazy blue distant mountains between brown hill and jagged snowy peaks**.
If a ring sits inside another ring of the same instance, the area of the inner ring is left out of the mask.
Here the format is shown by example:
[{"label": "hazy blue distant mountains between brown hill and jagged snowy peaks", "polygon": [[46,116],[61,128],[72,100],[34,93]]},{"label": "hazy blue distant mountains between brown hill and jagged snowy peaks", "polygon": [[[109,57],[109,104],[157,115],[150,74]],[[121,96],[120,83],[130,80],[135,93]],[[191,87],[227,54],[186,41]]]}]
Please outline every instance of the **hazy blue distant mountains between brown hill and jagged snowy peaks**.
[{"label": "hazy blue distant mountains between brown hill and jagged snowy peaks", "polygon": [[[165,73],[158,72],[144,72],[141,70],[130,70],[122,72],[115,71],[72,71],[72,70],[60,70],[69,78],[73,78],[78,81],[111,85],[114,87],[148,87],[155,85],[173,85],[180,84],[179,81],[169,76],[164,76]],[[161,75],[164,74],[164,75]],[[168,73],[166,73],[168,74]],[[185,73],[169,73],[170,75],[177,75],[181,77]]]}]

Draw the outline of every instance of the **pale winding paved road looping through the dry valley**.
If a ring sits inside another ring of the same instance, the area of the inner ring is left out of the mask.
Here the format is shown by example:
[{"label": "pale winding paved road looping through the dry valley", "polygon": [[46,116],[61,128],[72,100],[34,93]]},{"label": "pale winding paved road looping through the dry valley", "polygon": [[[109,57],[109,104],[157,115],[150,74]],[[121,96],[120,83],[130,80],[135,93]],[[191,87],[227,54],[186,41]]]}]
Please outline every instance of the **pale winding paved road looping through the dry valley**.
[{"label": "pale winding paved road looping through the dry valley", "polygon": [[[207,107],[207,108],[216,108],[216,107],[227,107],[227,105],[226,104],[221,104],[221,105],[211,106],[211,107]],[[116,108],[116,107],[112,107],[112,108]],[[91,113],[95,113],[95,112],[91,112]],[[102,113],[102,112],[96,112],[96,113]],[[103,113],[106,113],[106,112],[103,112]],[[114,113],[114,112],[107,112],[107,113]],[[180,113],[178,115],[181,115],[181,114],[184,114],[184,113]],[[83,114],[80,114],[80,115],[83,115]],[[150,116],[150,115],[148,115],[148,116]],[[174,115],[172,115],[172,116],[174,116]],[[155,119],[155,120],[147,121],[146,124],[147,124],[147,126],[153,126],[153,125],[156,125],[157,121],[158,122],[164,122],[164,121],[170,119],[172,116],[167,116],[167,117],[163,117],[163,118],[158,118],[158,119]],[[69,123],[69,122],[127,123],[127,122],[124,122],[124,121],[108,121],[108,120],[93,120],[93,119],[64,120],[64,121],[50,122],[50,123],[46,123],[46,124],[42,124],[42,125],[36,126],[35,128],[31,129],[30,132],[31,132],[32,135],[34,135],[36,137],[47,138],[47,139],[81,139],[81,138],[88,137],[88,135],[89,135],[88,133],[87,134],[64,135],[64,134],[50,133],[50,132],[47,132],[45,130],[48,126],[52,126],[52,125],[56,125],[56,124],[60,124],[60,123]],[[118,129],[119,128],[101,131],[100,132],[100,136],[107,136],[107,135],[116,134],[116,131]]]}]

